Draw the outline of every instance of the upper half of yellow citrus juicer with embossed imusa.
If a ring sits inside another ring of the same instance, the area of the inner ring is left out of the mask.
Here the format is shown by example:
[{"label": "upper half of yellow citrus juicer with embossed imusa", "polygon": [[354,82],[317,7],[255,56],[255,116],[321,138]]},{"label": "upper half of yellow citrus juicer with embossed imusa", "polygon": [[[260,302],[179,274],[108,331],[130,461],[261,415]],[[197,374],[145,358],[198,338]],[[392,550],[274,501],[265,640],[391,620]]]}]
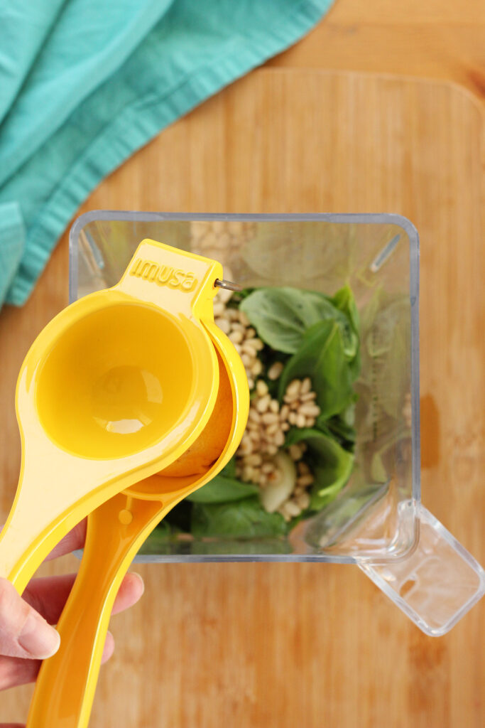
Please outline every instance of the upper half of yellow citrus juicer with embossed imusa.
[{"label": "upper half of yellow citrus juicer with embossed imusa", "polygon": [[34,341],[17,380],[20,479],[0,534],[0,576],[20,593],[76,523],[201,435],[219,388],[204,323],[222,273],[144,240],[117,285],[68,306]]}]

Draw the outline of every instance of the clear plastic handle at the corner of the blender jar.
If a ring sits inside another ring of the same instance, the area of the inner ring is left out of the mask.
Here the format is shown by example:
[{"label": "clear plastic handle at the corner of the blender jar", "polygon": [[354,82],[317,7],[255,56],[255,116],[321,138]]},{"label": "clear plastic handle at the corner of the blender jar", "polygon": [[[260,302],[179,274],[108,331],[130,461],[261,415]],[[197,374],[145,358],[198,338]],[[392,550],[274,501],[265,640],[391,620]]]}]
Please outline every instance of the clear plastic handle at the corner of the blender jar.
[{"label": "clear plastic handle at the corner of the blender jar", "polygon": [[424,506],[417,504],[419,540],[396,562],[358,562],[425,634],[446,634],[485,594],[485,571]]}]

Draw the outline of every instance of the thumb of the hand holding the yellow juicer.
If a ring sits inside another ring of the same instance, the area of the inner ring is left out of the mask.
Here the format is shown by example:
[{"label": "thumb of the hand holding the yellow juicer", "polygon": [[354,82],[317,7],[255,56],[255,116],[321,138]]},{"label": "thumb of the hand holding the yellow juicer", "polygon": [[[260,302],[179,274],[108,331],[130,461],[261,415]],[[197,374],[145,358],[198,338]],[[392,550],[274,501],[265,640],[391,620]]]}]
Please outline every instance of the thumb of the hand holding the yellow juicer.
[{"label": "thumb of the hand holding the yellow juicer", "polygon": [[0,654],[44,660],[57,652],[59,644],[59,633],[7,579],[0,579]]}]

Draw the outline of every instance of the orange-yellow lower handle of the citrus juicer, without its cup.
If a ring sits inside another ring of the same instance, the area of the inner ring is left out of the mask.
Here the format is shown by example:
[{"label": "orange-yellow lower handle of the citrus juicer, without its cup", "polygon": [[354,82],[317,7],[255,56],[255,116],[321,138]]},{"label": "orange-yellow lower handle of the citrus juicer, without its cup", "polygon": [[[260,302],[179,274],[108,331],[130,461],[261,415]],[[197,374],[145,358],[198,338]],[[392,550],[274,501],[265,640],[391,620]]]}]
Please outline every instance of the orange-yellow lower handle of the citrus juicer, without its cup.
[{"label": "orange-yellow lower handle of the citrus juicer, without its cup", "polygon": [[57,625],[60,648],[41,665],[28,728],[87,727],[116,594],[163,515],[156,500],[128,504],[119,494],[88,517],[79,573]]}]

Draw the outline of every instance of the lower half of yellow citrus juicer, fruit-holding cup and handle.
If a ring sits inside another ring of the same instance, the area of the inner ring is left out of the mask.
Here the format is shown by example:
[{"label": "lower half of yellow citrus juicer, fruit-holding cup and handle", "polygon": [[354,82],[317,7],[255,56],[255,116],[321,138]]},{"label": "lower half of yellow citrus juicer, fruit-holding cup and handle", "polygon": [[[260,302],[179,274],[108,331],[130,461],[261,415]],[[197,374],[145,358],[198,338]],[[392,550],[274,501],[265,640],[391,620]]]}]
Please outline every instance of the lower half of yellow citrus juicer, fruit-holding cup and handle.
[{"label": "lower half of yellow citrus juicer, fruit-holding cup and handle", "polygon": [[87,727],[111,609],[132,559],[161,518],[211,480],[239,445],[249,411],[246,373],[231,341],[214,323],[207,329],[220,368],[209,422],[174,464],[89,515],[79,574],[57,625],[60,649],[41,666],[28,728]]}]

